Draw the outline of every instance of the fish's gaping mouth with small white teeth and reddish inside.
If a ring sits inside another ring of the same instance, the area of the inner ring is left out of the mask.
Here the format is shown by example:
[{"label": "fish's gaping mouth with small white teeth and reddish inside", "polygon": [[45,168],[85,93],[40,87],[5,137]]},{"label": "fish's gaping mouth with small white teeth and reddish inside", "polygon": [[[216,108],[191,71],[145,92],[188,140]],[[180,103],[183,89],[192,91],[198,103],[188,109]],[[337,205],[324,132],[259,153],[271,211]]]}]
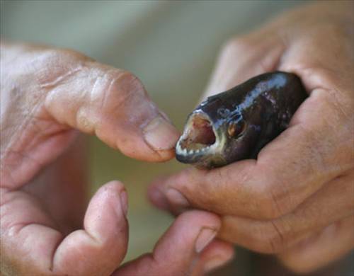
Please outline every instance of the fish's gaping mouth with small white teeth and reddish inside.
[{"label": "fish's gaping mouth with small white teeth and reddish inside", "polygon": [[220,146],[219,141],[210,117],[200,111],[192,113],[176,144],[176,156],[184,163],[193,162],[190,158],[215,154]]}]

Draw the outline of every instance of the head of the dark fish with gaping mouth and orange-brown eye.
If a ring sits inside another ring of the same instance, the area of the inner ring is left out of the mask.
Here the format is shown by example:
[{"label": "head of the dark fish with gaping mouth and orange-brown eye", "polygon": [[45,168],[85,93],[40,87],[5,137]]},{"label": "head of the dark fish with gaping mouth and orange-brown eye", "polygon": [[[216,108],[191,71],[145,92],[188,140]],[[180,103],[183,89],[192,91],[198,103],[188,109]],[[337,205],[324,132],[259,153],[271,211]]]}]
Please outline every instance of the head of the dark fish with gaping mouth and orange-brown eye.
[{"label": "head of the dark fish with gaping mouth and orange-brown eye", "polygon": [[210,97],[188,117],[176,145],[176,159],[200,168],[224,166],[244,154],[249,125],[236,105]]}]

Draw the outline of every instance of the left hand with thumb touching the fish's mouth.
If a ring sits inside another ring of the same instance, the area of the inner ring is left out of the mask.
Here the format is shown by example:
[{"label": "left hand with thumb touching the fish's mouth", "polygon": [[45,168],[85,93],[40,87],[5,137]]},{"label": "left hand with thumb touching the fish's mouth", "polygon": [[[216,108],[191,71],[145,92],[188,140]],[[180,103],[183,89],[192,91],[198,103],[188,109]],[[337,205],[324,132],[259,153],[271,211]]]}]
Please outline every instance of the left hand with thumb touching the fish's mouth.
[{"label": "left hand with thumb touching the fish's mouth", "polygon": [[127,193],[107,183],[84,214],[79,132],[144,161],[171,159],[178,139],[129,72],[71,50],[1,45],[1,275],[196,275],[232,258],[229,244],[212,241],[219,218],[193,211],[152,254],[118,268]]}]

